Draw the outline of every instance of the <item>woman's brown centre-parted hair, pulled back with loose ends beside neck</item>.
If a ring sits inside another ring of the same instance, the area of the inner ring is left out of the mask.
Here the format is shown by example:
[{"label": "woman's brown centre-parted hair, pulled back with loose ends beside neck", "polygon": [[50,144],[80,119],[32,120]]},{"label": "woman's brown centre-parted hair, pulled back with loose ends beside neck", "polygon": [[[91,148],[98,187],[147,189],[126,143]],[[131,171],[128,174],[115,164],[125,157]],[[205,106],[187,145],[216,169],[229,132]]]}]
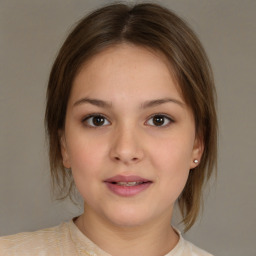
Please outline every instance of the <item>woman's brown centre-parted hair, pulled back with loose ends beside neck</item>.
[{"label": "woman's brown centre-parted hair, pulled back with loose ends beside neck", "polygon": [[157,4],[112,4],[98,9],[77,24],[61,47],[49,78],[45,113],[53,184],[63,198],[72,196],[73,179],[62,164],[58,133],[64,130],[73,80],[85,61],[122,42],[148,47],[167,57],[193,111],[197,136],[204,142],[200,164],[190,171],[178,198],[188,230],[198,216],[203,185],[216,165],[215,87],[208,58],[196,35],[172,11]]}]

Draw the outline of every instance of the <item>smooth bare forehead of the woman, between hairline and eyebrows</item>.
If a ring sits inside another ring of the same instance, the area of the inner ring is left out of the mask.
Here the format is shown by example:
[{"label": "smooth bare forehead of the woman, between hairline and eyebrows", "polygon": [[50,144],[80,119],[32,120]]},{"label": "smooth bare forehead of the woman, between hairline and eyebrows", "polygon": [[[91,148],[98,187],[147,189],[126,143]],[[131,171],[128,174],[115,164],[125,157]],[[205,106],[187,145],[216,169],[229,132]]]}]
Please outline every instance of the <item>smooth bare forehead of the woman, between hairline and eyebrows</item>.
[{"label": "smooth bare forehead of the woman, between hairline and eyebrows", "polygon": [[138,93],[152,88],[172,88],[181,96],[174,77],[172,66],[163,53],[123,43],[108,47],[86,61],[74,79],[71,94],[86,90],[99,93],[106,89],[136,89]]}]

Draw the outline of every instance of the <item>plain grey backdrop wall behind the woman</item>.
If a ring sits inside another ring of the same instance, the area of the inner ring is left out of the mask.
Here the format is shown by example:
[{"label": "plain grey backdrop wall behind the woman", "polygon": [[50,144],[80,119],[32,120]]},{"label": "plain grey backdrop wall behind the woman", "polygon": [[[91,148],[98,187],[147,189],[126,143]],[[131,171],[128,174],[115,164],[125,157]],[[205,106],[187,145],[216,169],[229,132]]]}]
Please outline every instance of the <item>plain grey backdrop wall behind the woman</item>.
[{"label": "plain grey backdrop wall behind the woman", "polygon": [[[51,200],[45,90],[71,25],[108,2],[0,0],[0,235],[57,225],[81,212]],[[216,256],[255,256],[256,1],[155,2],[197,32],[218,92],[219,174],[203,217],[185,236]]]}]

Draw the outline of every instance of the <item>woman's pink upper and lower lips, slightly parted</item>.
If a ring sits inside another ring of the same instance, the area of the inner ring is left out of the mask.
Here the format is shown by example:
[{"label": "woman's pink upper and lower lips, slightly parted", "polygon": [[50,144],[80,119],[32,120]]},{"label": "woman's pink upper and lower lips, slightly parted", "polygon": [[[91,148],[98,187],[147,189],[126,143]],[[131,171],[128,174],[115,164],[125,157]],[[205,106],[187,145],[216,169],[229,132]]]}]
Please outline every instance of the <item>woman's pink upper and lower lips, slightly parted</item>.
[{"label": "woman's pink upper and lower lips, slightly parted", "polygon": [[[118,182],[124,182],[124,183],[136,182],[138,184],[125,186],[125,185],[117,184]],[[109,179],[106,179],[104,183],[112,193],[118,196],[131,197],[131,196],[136,196],[141,192],[145,191],[153,182],[151,180],[142,178],[140,176],[117,175]]]}]

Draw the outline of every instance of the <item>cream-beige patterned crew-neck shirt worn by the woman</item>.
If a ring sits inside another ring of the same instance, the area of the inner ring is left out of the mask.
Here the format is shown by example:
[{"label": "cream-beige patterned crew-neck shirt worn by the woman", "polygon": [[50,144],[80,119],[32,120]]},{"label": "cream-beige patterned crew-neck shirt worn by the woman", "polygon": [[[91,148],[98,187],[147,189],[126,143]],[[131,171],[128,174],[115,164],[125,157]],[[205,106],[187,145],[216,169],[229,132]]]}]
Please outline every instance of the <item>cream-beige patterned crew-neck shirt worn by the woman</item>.
[{"label": "cream-beige patterned crew-neck shirt worn by the woman", "polygon": [[[165,256],[212,256],[182,238]],[[111,256],[89,240],[71,220],[59,226],[0,238],[1,256]]]}]

